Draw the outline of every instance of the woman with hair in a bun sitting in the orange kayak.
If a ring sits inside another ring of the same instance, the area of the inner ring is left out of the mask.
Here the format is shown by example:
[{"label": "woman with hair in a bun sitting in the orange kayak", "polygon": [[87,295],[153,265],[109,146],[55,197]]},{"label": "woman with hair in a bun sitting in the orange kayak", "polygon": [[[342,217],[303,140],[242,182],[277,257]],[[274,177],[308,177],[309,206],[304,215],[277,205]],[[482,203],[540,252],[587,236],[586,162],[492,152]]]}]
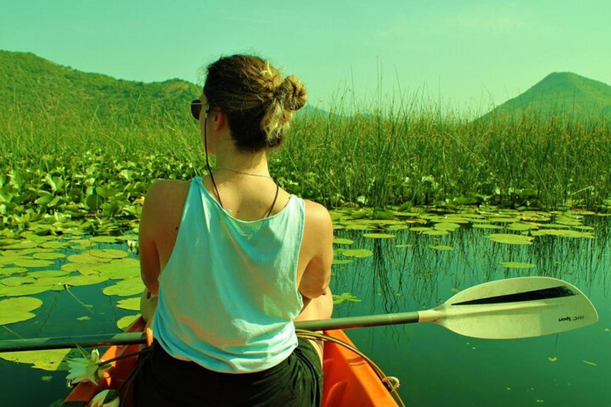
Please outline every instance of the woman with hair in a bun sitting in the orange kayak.
[{"label": "woman with hair in a bun sitting in the orange kayak", "polygon": [[297,339],[293,321],[331,316],[331,218],[280,189],[267,164],[305,98],[258,57],[208,67],[191,112],[216,169],[155,182],[142,209],[141,275],[159,299],[136,405],[320,403],[322,347]]}]

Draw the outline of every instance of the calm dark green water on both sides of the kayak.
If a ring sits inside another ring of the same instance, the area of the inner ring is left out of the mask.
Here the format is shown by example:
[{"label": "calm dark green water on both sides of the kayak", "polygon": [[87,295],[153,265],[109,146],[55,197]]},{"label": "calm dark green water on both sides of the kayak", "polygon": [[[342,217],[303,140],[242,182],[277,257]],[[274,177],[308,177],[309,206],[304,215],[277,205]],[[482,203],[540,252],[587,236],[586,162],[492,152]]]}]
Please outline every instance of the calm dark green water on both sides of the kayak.
[{"label": "calm dark green water on both sides of the kayak", "polygon": [[[608,225],[600,222],[595,225],[597,239],[542,236],[531,246],[493,243],[479,229],[459,229],[442,237],[397,232],[389,240],[365,239],[362,232],[337,232],[355,240],[351,248],[370,248],[374,255],[334,265],[332,290],[351,292],[362,300],[337,304],[334,315],[433,308],[457,289],[492,279],[562,278],[590,297],[599,312],[598,324],[519,340],[472,339],[432,324],[357,329],[348,334],[387,375],[400,378],[406,405],[611,406],[611,243]],[[413,246],[395,247],[399,243]],[[431,244],[454,250],[436,251],[428,248]],[[530,262],[537,267],[505,268],[501,261]],[[44,301],[34,311],[37,319],[9,328],[24,337],[117,331],[115,321],[134,311],[116,308],[120,297],[101,294],[101,288],[111,284],[71,287],[81,301],[93,304],[93,314],[65,291],[46,292],[35,295]],[[92,319],[77,321],[82,315]],[[0,337],[15,336],[0,330]],[[43,381],[43,376],[51,379]],[[0,405],[48,406],[67,394],[65,376],[66,372],[46,372],[0,359]]]}]

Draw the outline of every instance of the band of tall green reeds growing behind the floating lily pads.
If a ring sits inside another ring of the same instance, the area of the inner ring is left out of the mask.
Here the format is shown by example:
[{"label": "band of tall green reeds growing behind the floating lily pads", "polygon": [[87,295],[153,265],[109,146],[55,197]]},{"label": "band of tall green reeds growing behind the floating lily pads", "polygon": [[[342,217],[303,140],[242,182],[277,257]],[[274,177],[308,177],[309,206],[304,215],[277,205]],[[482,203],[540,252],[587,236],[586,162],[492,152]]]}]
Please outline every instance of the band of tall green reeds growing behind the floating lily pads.
[{"label": "band of tall green reeds growing behind the floating lily pads", "polygon": [[[98,185],[120,178],[122,167],[144,184],[203,172],[192,120],[87,123],[2,112],[0,121],[4,188],[12,170],[42,189],[47,173],[76,177],[75,184],[87,176]],[[329,206],[486,202],[556,209],[608,204],[609,157],[609,121],[466,123],[426,112],[329,113],[298,118],[270,164],[287,190]]]}]

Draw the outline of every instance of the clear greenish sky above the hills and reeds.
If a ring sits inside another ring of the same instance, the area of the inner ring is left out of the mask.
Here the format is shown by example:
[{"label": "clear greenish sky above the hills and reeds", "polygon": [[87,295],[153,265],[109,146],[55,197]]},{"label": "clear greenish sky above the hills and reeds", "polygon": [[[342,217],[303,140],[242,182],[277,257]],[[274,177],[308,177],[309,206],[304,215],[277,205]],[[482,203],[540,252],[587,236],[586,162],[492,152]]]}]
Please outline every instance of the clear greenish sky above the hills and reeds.
[{"label": "clear greenish sky above the hills and reeds", "polygon": [[485,111],[547,74],[611,84],[611,0],[2,0],[0,49],[136,81],[256,53],[329,107],[425,92]]}]

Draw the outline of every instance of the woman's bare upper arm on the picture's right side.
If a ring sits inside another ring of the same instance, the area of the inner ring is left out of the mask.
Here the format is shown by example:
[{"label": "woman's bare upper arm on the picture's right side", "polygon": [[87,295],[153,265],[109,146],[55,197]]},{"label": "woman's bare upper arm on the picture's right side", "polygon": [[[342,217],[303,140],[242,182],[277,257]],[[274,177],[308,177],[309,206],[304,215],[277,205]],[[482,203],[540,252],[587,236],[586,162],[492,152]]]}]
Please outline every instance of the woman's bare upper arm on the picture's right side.
[{"label": "woman's bare upper arm on the picture's right side", "polygon": [[299,292],[307,298],[325,294],[331,280],[333,261],[333,224],[327,209],[321,204],[306,201],[304,242],[312,247],[312,259],[305,267],[299,283]]}]

